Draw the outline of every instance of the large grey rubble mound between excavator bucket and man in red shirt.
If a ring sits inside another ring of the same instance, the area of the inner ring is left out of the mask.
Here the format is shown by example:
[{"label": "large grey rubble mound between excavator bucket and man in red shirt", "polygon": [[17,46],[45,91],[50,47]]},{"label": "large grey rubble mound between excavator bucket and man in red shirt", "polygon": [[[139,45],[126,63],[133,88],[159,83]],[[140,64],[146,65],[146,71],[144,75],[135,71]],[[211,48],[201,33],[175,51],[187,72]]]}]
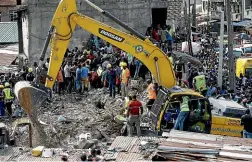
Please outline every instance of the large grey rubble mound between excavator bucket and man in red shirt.
[{"label": "large grey rubble mound between excavator bucket and man in red shirt", "polygon": [[90,132],[98,140],[104,138],[100,131],[110,137],[119,135],[120,126],[113,118],[123,105],[122,99],[110,98],[102,89],[84,96],[55,96],[54,99],[39,115],[39,120],[46,123],[44,128],[54,147],[74,145],[83,133]]}]

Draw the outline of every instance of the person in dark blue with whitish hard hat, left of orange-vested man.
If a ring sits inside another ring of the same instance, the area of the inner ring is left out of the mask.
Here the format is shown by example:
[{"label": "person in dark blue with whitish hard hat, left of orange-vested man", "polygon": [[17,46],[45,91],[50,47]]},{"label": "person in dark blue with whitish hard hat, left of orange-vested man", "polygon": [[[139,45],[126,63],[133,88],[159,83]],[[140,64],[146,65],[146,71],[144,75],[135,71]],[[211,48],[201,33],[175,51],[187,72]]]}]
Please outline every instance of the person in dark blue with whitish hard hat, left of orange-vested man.
[{"label": "person in dark blue with whitish hard hat, left of orange-vested man", "polygon": [[116,71],[112,68],[111,64],[107,65],[106,80],[109,84],[109,96],[115,98]]}]

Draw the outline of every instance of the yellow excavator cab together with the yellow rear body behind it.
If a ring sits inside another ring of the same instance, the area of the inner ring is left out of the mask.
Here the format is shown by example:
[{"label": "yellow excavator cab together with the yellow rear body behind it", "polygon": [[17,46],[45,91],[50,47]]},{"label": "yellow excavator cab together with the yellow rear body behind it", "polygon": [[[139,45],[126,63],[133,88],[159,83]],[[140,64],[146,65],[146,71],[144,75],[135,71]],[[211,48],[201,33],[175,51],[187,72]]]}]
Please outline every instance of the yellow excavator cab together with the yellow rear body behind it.
[{"label": "yellow excavator cab together with the yellow rear body behind it", "polygon": [[201,94],[180,87],[159,90],[150,110],[151,129],[158,134],[173,129],[179,114],[180,100],[188,96],[190,114],[184,131],[241,137],[240,119],[213,115],[209,100]]}]

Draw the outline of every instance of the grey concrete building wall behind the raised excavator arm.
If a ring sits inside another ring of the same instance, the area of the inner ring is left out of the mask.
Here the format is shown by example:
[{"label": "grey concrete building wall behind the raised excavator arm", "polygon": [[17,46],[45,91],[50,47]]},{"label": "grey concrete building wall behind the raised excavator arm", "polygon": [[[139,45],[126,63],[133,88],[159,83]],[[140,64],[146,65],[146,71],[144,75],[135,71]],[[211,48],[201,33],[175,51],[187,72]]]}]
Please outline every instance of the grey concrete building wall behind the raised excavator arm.
[{"label": "grey concrete building wall behind the raised excavator arm", "polygon": [[[152,23],[152,8],[166,8],[168,9],[168,22],[178,22],[180,19],[181,0],[91,0],[93,3],[102,9],[115,15],[120,20],[127,23],[142,34],[145,33],[146,28]],[[39,54],[44,44],[47,31],[50,26],[52,16],[58,5],[59,0],[24,0],[24,5],[28,6],[28,18],[23,22],[28,24],[28,56],[31,62],[38,61]],[[101,16],[97,11],[88,6],[85,2],[77,0],[78,11],[90,16],[98,21],[104,22],[115,28],[118,25],[111,22],[107,18]],[[25,25],[23,25],[24,27]],[[23,34],[26,34],[23,28]],[[88,32],[83,31],[77,27],[73,37],[70,41],[70,48],[80,46],[82,41],[85,41],[89,36]],[[24,36],[26,39],[26,36]],[[25,46],[25,45],[24,45]],[[27,48],[27,47],[26,47]],[[49,53],[49,52],[48,52]]]}]

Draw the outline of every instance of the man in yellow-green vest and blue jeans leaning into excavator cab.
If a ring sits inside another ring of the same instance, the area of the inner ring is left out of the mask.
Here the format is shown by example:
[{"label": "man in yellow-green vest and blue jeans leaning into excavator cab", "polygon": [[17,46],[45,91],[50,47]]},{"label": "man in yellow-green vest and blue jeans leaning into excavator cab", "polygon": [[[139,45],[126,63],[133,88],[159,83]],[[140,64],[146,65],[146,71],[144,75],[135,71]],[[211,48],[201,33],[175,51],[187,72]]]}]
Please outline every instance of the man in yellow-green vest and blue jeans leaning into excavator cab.
[{"label": "man in yellow-green vest and blue jeans leaning into excavator cab", "polygon": [[188,96],[183,97],[183,102],[180,105],[180,112],[174,126],[174,129],[176,130],[181,130],[181,131],[184,130],[184,122],[189,115],[188,100],[189,100]]}]

